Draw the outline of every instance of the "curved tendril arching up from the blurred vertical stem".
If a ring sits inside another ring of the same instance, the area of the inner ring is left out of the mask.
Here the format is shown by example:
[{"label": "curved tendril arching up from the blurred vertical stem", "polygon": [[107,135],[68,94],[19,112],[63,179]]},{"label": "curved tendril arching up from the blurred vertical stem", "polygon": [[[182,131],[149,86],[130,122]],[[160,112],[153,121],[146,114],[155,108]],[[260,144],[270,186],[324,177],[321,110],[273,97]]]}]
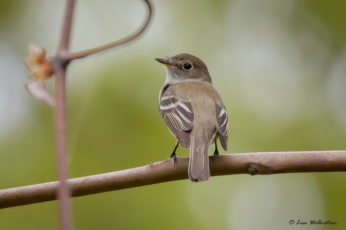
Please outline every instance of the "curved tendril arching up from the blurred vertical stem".
[{"label": "curved tendril arching up from the blurred vertical stem", "polygon": [[149,21],[151,20],[152,14],[153,14],[153,7],[152,7],[150,0],[144,0],[144,2],[146,3],[146,6],[148,7],[148,16],[147,16],[145,23],[140,28],[138,28],[135,32],[133,32],[130,35],[128,35],[124,38],[121,38],[117,41],[113,41],[113,42],[104,44],[104,45],[99,46],[99,47],[91,48],[91,49],[84,50],[84,51],[78,51],[78,52],[70,53],[70,54],[68,54],[68,56],[66,58],[68,60],[75,60],[75,59],[79,59],[79,58],[84,58],[84,57],[89,56],[91,54],[98,53],[100,51],[107,50],[107,49],[110,49],[110,48],[113,48],[116,46],[120,46],[124,43],[127,43],[127,42],[137,38],[147,28]]}]

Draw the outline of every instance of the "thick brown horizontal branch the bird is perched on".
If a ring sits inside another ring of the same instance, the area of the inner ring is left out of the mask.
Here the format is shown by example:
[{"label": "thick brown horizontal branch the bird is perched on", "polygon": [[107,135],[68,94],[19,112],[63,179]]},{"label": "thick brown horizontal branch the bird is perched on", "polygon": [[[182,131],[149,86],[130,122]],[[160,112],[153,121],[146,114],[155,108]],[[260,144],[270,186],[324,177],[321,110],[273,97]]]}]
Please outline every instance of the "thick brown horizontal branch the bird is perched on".
[{"label": "thick brown horizontal branch the bird is perched on", "polygon": [[[67,180],[72,197],[188,179],[188,157]],[[346,171],[346,151],[234,153],[209,157],[211,176]],[[0,190],[0,209],[56,200],[58,182]]]}]

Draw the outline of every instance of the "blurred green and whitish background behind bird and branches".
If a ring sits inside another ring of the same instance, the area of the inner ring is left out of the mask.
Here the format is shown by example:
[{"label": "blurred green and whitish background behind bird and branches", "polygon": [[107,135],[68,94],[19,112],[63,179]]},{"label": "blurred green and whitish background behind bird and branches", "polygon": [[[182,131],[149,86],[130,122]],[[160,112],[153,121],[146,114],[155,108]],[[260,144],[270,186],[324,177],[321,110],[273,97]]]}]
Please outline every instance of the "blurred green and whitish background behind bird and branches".
[{"label": "blurred green and whitish background behind bird and branches", "polygon": [[[70,178],[169,157],[175,139],[158,113],[165,71],[154,58],[182,52],[207,64],[224,99],[228,153],[346,150],[346,1],[153,2],[140,39],[69,67]],[[54,55],[63,9],[0,0],[0,189],[56,180],[53,109],[25,91],[24,59],[30,42]],[[126,36],[145,14],[138,0],[75,9],[73,51]],[[73,228],[345,229],[345,191],[344,172],[175,181],[73,198]],[[0,229],[58,229],[57,207],[2,209]],[[337,225],[289,224],[299,219]]]}]

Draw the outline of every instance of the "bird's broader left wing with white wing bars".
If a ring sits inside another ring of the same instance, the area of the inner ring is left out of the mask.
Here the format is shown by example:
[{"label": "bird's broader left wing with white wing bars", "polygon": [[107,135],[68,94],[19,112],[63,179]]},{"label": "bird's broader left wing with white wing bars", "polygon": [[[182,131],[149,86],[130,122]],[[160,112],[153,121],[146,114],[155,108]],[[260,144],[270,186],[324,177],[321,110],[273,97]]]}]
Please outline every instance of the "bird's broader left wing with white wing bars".
[{"label": "bird's broader left wing with white wing bars", "polygon": [[190,131],[193,128],[191,103],[182,101],[172,94],[163,94],[159,111],[169,130],[183,148],[190,146]]}]

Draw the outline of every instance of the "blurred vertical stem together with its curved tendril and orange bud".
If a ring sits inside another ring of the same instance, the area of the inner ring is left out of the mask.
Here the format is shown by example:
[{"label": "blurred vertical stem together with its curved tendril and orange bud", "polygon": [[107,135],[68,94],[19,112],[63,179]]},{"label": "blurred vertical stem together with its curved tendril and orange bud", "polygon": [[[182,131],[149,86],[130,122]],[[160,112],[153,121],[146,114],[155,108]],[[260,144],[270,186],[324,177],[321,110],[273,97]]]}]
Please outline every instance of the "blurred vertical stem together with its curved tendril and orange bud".
[{"label": "blurred vertical stem together with its curved tendril and orange bud", "polygon": [[[153,7],[150,0],[144,0],[148,8],[148,15],[145,23],[129,36],[105,44],[100,47],[89,49],[86,51],[69,54],[69,43],[71,34],[71,24],[73,18],[73,8],[75,0],[66,0],[65,15],[63,18],[63,27],[61,38],[56,56],[48,60],[45,58],[45,51],[38,46],[31,46],[31,53],[27,59],[28,67],[33,71],[35,76],[31,82],[27,84],[27,90],[36,98],[46,100],[52,105],[55,104],[55,150],[57,160],[57,176],[58,186],[56,189],[56,197],[60,201],[60,227],[63,230],[71,229],[71,214],[69,198],[71,190],[66,180],[68,179],[68,163],[67,163],[67,124],[66,124],[66,69],[71,60],[83,58],[90,54],[94,54],[103,50],[119,46],[128,41],[137,38],[147,28],[152,18]],[[55,101],[45,89],[43,80],[54,74],[55,78]],[[52,193],[51,193],[52,194]],[[20,197],[19,197],[20,198]],[[1,204],[0,200],[0,204]]]}]

